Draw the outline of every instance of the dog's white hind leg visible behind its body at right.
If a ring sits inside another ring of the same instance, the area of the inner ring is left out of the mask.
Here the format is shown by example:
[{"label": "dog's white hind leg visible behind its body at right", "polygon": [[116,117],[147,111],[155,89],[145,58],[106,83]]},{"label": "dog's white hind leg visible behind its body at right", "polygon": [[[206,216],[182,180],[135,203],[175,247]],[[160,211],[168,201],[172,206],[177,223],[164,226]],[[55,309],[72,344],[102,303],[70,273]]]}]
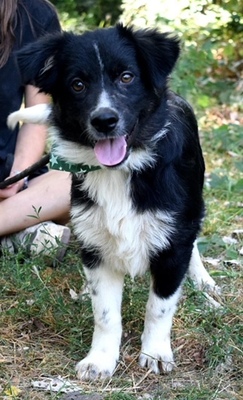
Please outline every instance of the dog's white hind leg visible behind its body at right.
[{"label": "dog's white hind leg visible behind its body at right", "polygon": [[220,293],[219,286],[216,285],[202,263],[196,242],[194,242],[188,274],[199,289],[206,289],[215,294]]}]

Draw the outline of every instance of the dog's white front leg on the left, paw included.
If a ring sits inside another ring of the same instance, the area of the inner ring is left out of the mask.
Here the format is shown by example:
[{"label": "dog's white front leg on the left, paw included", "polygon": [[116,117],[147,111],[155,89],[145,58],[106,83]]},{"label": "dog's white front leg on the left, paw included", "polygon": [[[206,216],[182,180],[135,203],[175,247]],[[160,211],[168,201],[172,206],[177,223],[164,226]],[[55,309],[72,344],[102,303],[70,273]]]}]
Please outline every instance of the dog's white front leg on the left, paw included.
[{"label": "dog's white front leg on the left, paw included", "polygon": [[77,364],[81,380],[110,377],[119,358],[122,334],[121,300],[124,276],[104,265],[85,268],[94,313],[94,333],[88,355]]}]

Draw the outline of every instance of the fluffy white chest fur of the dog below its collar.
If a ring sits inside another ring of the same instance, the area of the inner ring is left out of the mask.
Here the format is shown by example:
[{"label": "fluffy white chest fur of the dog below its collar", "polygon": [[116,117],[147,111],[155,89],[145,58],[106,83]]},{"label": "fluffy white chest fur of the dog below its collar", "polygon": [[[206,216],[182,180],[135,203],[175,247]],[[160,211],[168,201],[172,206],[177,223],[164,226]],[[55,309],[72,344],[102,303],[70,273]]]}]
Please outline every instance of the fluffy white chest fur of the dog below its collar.
[{"label": "fluffy white chest fur of the dog below its collar", "polygon": [[143,274],[149,256],[168,246],[172,215],[161,211],[138,213],[131,200],[130,175],[124,171],[91,172],[82,189],[95,205],[72,208],[76,235],[85,246],[100,250],[107,267],[132,277]]}]

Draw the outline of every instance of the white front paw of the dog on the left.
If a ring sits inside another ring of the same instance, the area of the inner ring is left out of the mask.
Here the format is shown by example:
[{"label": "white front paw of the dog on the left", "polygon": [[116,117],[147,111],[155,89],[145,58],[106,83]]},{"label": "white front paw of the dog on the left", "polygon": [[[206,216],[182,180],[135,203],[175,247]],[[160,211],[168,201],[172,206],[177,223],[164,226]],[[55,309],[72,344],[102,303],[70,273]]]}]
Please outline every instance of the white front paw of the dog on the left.
[{"label": "white front paw of the dog on the left", "polygon": [[103,352],[89,354],[76,365],[80,380],[106,379],[112,376],[116,359]]}]

